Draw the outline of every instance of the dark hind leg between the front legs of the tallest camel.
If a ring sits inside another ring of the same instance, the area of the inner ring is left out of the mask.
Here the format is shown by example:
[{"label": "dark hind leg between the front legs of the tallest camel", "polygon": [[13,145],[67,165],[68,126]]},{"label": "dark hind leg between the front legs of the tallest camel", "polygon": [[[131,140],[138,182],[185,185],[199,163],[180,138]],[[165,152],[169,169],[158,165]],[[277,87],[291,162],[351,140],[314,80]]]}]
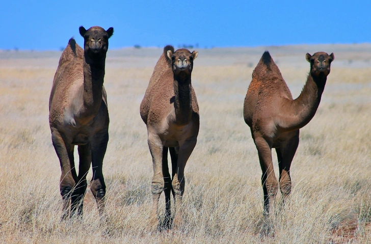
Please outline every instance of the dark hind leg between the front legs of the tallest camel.
[{"label": "dark hind leg between the front legs of the tallest camel", "polygon": [[71,215],[83,215],[84,196],[87,188],[86,175],[91,164],[91,146],[90,144],[78,146],[79,165],[78,176],[71,196]]}]

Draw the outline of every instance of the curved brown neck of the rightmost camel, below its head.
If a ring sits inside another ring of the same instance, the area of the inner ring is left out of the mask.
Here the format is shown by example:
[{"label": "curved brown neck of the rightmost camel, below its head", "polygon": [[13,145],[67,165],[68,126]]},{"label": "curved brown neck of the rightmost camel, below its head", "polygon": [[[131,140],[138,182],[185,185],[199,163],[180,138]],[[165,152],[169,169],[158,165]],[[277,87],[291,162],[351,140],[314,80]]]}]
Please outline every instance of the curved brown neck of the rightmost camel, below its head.
[{"label": "curved brown neck of the rightmost camel, below its head", "polygon": [[299,97],[292,101],[292,111],[294,118],[288,127],[290,130],[299,129],[309,123],[314,117],[315,112],[321,102],[321,96],[325,89],[327,77],[313,77],[309,73],[307,82]]}]

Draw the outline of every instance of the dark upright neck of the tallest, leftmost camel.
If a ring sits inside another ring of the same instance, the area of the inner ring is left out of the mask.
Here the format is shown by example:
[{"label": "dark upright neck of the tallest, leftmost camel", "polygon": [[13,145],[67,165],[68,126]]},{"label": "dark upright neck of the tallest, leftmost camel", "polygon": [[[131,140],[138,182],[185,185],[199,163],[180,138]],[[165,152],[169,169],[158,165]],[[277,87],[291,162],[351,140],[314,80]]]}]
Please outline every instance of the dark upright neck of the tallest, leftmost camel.
[{"label": "dark upright neck of the tallest, leftmost camel", "polygon": [[102,102],[105,56],[91,59],[84,55],[84,108],[86,116],[95,116]]}]

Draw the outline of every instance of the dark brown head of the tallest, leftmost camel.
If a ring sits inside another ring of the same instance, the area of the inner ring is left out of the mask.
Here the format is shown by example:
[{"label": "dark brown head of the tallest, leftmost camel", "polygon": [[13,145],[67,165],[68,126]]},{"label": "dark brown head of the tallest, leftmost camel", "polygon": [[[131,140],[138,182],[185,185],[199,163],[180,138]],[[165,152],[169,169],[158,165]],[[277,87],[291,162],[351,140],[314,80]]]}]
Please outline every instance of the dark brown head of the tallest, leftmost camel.
[{"label": "dark brown head of the tallest, leftmost camel", "polygon": [[105,54],[108,50],[108,39],[113,35],[113,28],[104,31],[100,26],[93,26],[86,30],[83,26],[78,28],[80,35],[84,37],[84,50],[89,55],[97,53]]}]

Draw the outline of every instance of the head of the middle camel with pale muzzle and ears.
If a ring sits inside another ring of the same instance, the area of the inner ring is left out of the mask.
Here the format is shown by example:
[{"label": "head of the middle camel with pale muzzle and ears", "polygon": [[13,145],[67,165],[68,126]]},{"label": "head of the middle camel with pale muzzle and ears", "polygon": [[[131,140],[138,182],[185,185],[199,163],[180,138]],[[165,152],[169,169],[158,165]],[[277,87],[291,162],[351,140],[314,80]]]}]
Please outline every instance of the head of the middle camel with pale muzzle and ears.
[{"label": "head of the middle camel with pale muzzle and ears", "polygon": [[198,51],[190,52],[188,49],[181,48],[174,52],[172,49],[167,50],[166,56],[172,65],[173,73],[186,76],[192,73],[193,60],[197,58]]}]

